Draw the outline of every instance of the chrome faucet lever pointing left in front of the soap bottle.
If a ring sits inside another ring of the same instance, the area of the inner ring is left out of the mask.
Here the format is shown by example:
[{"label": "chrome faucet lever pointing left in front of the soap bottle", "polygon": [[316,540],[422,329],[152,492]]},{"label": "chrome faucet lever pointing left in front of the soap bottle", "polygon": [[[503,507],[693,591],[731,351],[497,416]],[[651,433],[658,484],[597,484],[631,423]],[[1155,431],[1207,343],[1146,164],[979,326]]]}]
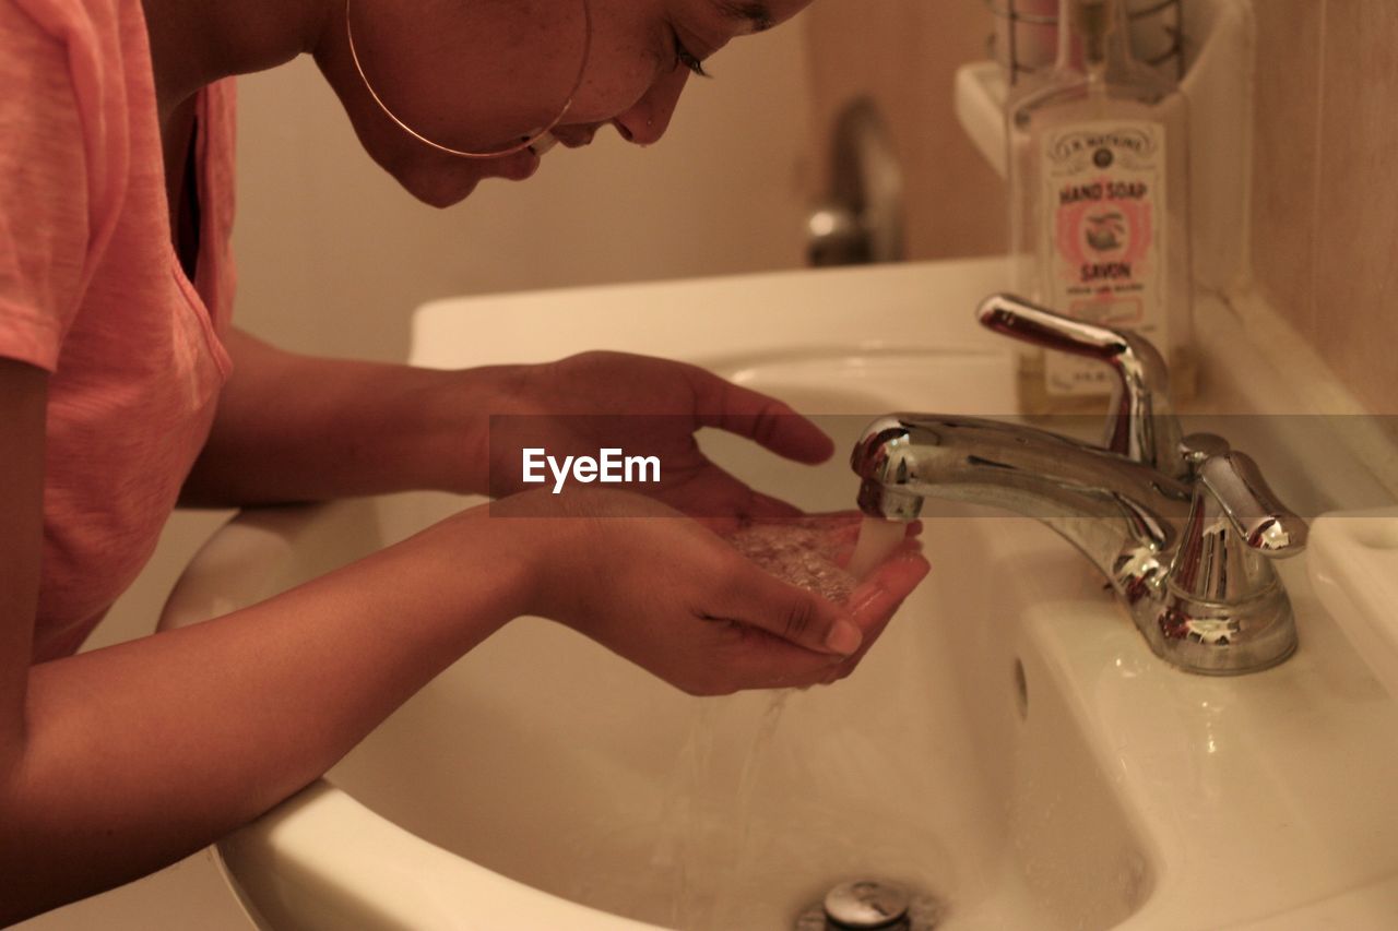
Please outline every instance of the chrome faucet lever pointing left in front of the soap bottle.
[{"label": "chrome faucet lever pointing left in front of the soap bottle", "polygon": [[1167,475],[1181,478],[1180,425],[1170,408],[1169,369],[1142,335],[1075,320],[1012,294],[994,294],[977,309],[981,326],[1022,342],[1097,359],[1111,366],[1111,393],[1103,446]]}]

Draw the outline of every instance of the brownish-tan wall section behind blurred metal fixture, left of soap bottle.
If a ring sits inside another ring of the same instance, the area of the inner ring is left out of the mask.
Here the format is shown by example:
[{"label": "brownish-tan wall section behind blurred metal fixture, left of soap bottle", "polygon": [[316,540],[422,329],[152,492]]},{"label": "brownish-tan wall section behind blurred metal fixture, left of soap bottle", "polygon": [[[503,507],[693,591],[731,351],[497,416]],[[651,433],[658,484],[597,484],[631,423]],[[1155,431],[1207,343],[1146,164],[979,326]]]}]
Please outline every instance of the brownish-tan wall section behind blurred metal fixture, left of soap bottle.
[{"label": "brownish-tan wall section behind blurred metal fixture, left of soap bottle", "polygon": [[[910,259],[1005,252],[1005,189],[956,123],[956,67],[986,57],[980,0],[821,0],[808,13],[815,129],[860,94],[891,124],[907,186]],[[819,164],[823,176],[825,143]]]}]

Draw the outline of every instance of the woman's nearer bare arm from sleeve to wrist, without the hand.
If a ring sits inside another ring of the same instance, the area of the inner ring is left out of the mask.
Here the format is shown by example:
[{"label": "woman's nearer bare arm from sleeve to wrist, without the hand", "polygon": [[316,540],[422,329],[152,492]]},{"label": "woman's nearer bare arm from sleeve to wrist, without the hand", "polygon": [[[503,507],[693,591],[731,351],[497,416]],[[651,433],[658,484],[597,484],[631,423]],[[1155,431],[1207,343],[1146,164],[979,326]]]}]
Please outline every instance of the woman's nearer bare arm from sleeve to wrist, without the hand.
[{"label": "woman's nearer bare arm from sleeve to wrist, without the hand", "polygon": [[245,611],[31,667],[46,379],[0,359],[0,925],[266,811],[519,614],[524,590],[520,538],[468,512]]}]

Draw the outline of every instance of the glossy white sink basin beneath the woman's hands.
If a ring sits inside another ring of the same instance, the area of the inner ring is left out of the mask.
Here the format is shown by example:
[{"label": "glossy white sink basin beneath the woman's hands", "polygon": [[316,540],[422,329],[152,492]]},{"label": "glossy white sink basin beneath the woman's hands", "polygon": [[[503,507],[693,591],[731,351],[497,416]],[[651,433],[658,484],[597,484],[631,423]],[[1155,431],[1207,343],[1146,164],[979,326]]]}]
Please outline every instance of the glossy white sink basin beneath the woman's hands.
[{"label": "glossy white sink basin beneath the woman's hands", "polygon": [[[686,358],[823,415],[849,449],[893,410],[1012,410],[1008,347],[972,319],[1002,280],[965,261],[443,302],[417,316],[415,361]],[[759,488],[853,505],[843,454],[812,470],[705,442]],[[470,503],[245,513],[162,623]],[[932,573],[850,679],[693,699],[516,621],[221,842],[235,888],[278,930],[776,931],[864,875],[934,896],[944,928],[1391,927],[1398,707],[1300,562],[1283,566],[1300,651],[1213,679],[1156,660],[1047,528],[935,502],[924,517]]]}]

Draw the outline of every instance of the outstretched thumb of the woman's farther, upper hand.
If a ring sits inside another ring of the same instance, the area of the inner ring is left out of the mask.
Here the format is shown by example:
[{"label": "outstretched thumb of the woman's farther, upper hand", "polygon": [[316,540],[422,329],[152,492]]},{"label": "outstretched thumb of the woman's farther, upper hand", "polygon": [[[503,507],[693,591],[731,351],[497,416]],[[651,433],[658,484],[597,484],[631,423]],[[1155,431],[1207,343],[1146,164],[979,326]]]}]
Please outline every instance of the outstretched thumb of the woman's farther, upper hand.
[{"label": "outstretched thumb of the woman's farther, upper hand", "polygon": [[798,463],[823,463],[835,454],[835,440],[825,431],[774,397],[698,368],[692,386],[696,418],[705,426],[745,436]]}]

